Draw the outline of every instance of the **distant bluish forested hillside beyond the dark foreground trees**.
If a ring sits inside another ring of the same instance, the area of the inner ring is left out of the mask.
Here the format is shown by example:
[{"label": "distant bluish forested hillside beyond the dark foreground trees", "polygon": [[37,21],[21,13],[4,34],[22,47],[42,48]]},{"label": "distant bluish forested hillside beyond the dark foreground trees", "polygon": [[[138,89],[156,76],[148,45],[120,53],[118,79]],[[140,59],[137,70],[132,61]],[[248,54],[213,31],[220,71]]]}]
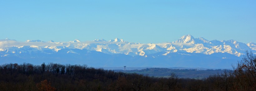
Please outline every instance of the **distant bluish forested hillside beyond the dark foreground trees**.
[{"label": "distant bluish forested hillside beyond the dark foreground trees", "polygon": [[232,71],[229,69],[168,69],[168,68],[146,68],[135,70],[114,70],[115,72],[137,73],[154,77],[169,77],[171,73],[175,73],[179,78],[195,78],[203,79],[210,75],[224,73],[224,71]]}]

